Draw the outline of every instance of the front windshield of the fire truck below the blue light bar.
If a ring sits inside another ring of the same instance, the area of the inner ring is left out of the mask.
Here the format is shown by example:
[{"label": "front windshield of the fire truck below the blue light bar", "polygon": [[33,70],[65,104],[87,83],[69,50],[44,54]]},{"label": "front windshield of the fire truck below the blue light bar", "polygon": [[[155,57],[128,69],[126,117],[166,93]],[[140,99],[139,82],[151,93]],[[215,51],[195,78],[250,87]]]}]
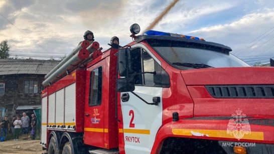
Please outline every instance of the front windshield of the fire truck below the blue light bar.
[{"label": "front windshield of the fire truck below the blue light bar", "polygon": [[183,47],[154,47],[168,63],[182,70],[212,67],[248,67],[230,53]]}]

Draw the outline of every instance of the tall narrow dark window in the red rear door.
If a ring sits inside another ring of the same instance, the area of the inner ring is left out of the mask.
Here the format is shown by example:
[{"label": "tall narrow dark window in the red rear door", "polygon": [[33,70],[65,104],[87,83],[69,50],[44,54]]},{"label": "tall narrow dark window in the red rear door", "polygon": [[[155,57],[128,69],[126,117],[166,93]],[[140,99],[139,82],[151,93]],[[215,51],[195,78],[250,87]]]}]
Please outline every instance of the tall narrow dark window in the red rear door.
[{"label": "tall narrow dark window in the red rear door", "polygon": [[89,106],[100,105],[102,102],[102,67],[90,72]]}]

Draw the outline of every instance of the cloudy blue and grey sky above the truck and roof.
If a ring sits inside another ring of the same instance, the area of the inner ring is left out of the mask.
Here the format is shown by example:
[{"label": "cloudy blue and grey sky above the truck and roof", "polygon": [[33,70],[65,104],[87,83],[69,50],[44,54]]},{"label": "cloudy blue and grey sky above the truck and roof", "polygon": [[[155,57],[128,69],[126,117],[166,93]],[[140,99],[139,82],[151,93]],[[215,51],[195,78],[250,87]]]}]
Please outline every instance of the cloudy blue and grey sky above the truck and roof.
[{"label": "cloudy blue and grey sky above the truck and roof", "polygon": [[[139,24],[142,32],[172,1],[0,0],[0,41],[8,40],[12,57],[58,59],[90,30],[106,50],[113,36],[122,46],[130,43],[130,25]],[[224,44],[250,65],[269,63],[274,58],[274,1],[180,0],[153,30]]]}]

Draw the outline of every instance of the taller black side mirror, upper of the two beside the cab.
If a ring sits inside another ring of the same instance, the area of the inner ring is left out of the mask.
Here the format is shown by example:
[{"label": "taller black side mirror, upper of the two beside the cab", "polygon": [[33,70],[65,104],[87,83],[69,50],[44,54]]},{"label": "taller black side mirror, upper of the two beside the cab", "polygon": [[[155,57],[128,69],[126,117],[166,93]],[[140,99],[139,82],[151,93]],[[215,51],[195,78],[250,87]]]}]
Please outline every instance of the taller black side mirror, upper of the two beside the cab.
[{"label": "taller black side mirror, upper of the two beside the cab", "polygon": [[118,67],[120,76],[128,76],[132,73],[131,55],[128,48],[118,51]]}]

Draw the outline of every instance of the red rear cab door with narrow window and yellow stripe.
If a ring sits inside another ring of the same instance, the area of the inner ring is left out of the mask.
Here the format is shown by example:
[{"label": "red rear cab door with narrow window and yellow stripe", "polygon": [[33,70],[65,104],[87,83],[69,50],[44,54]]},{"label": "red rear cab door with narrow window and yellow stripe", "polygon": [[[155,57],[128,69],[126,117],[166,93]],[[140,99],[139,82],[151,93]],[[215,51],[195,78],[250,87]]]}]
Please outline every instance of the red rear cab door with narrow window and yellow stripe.
[{"label": "red rear cab door with narrow window and yellow stripe", "polygon": [[84,143],[104,147],[103,62],[87,69]]}]

